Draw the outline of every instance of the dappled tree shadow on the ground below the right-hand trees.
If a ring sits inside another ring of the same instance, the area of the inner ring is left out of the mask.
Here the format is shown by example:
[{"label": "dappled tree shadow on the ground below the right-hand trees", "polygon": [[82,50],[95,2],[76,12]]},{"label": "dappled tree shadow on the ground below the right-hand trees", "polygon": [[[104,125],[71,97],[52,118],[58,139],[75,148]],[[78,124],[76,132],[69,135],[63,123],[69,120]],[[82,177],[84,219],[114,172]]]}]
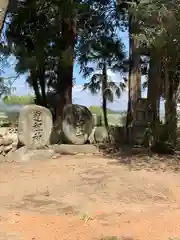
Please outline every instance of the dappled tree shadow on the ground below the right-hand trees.
[{"label": "dappled tree shadow on the ground below the right-hand trees", "polygon": [[123,165],[129,170],[180,171],[180,155],[155,154],[148,148],[131,148],[103,144],[99,146],[103,156],[111,160],[108,164]]}]

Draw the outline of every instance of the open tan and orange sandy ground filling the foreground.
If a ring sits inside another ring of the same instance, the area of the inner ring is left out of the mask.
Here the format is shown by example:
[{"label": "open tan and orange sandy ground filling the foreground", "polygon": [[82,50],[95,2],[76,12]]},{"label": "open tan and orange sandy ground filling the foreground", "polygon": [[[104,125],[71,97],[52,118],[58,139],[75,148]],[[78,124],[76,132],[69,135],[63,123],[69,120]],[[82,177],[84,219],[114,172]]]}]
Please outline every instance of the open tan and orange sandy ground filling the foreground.
[{"label": "open tan and orange sandy ground filling the foreground", "polygon": [[180,239],[180,173],[113,162],[1,163],[0,240]]}]

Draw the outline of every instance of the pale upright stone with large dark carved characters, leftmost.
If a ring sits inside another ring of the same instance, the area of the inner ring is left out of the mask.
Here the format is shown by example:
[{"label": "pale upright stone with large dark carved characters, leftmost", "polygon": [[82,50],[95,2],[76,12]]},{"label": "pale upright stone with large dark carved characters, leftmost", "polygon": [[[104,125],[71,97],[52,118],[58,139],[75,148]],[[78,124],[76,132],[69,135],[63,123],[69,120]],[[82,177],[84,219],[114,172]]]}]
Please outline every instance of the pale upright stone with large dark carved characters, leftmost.
[{"label": "pale upright stone with large dark carved characters, leftmost", "polygon": [[25,106],[19,114],[18,137],[29,149],[39,149],[49,144],[52,131],[52,114],[38,105]]}]

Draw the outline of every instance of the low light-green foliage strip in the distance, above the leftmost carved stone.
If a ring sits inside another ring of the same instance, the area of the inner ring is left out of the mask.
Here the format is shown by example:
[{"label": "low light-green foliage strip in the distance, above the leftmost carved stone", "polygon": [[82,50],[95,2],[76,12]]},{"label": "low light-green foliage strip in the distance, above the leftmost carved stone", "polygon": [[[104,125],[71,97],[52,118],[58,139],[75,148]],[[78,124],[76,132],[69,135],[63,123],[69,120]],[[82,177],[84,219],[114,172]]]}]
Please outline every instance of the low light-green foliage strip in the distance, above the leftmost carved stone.
[{"label": "low light-green foliage strip in the distance, above the leftmost carved stone", "polygon": [[16,96],[16,95],[10,95],[3,98],[3,102],[5,104],[17,104],[17,105],[27,105],[27,104],[33,104],[34,103],[34,97],[31,95],[25,95],[25,96]]}]

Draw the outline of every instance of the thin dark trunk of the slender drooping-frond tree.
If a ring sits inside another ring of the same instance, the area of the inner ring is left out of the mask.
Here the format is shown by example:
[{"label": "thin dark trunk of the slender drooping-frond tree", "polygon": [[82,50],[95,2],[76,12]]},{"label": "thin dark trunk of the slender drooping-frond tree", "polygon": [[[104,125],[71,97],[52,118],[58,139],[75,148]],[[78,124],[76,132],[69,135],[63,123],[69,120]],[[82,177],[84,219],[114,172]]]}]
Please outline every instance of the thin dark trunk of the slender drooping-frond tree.
[{"label": "thin dark trunk of the slender drooping-frond tree", "polygon": [[103,117],[104,117],[104,124],[106,129],[108,129],[108,117],[107,117],[107,100],[106,100],[106,89],[107,89],[107,67],[106,63],[103,65],[102,71],[102,110],[103,110]]}]

